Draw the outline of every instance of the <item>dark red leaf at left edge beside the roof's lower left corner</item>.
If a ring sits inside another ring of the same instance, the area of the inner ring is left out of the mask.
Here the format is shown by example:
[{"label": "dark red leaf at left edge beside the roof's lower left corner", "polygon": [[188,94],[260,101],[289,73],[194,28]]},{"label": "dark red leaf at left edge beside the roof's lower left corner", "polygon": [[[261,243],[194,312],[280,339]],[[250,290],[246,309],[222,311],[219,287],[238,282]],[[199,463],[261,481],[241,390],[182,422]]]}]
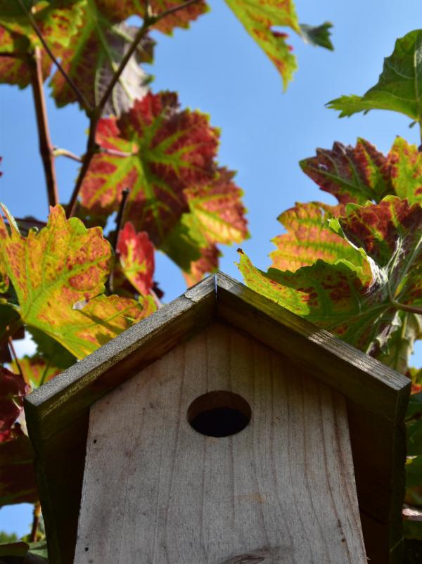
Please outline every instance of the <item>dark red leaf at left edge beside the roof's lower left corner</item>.
[{"label": "dark red leaf at left edge beside the roof's lower left corner", "polygon": [[23,410],[23,396],[29,391],[20,374],[0,366],[0,433],[11,429]]}]

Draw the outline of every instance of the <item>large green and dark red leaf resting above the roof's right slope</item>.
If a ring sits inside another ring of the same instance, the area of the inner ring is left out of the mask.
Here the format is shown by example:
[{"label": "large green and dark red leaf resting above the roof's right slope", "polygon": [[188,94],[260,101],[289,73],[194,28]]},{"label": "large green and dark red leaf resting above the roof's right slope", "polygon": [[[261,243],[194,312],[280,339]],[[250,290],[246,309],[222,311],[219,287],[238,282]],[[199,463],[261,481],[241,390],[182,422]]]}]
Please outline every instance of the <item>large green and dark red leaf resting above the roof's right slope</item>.
[{"label": "large green and dark red leaf resting above the roof's right slope", "polygon": [[346,210],[345,217],[331,219],[331,229],[362,248],[370,275],[345,259],[264,273],[242,253],[238,266],[253,290],[378,355],[399,326],[399,305],[422,305],[422,207],[388,196]]}]

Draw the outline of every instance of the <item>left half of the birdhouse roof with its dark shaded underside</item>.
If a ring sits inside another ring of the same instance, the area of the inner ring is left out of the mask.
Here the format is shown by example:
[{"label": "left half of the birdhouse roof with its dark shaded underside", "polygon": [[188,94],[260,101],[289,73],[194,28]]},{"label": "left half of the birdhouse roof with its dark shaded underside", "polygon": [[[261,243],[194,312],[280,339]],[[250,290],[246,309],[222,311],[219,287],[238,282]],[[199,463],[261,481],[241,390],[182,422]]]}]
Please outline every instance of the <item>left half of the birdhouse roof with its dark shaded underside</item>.
[{"label": "left half of the birdhouse roof with its dark shaded underside", "polygon": [[25,397],[52,564],[73,561],[89,406],[214,315],[210,277]]}]

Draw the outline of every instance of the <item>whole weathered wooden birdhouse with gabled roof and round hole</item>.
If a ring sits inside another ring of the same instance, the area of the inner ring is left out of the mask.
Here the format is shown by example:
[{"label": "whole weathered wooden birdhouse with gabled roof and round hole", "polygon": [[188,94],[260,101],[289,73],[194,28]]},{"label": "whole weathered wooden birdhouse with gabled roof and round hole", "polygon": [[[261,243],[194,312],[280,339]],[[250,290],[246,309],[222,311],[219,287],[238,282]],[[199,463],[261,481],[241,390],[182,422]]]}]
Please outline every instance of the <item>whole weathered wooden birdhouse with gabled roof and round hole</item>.
[{"label": "whole weathered wooden birdhouse with gabled roof and round hole", "polygon": [[51,562],[399,562],[408,397],[210,276],[26,398]]}]

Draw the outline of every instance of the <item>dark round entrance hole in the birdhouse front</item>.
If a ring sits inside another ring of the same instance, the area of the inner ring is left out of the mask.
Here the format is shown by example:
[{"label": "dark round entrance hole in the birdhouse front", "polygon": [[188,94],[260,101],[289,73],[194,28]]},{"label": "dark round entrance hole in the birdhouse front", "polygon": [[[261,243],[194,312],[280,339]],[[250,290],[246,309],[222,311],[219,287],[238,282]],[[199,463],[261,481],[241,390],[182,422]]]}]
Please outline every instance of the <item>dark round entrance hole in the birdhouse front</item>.
[{"label": "dark round entrance hole in the birdhouse front", "polygon": [[229,437],[248,425],[252,411],[238,394],[218,390],[193,400],[188,408],[191,427],[207,437]]}]

